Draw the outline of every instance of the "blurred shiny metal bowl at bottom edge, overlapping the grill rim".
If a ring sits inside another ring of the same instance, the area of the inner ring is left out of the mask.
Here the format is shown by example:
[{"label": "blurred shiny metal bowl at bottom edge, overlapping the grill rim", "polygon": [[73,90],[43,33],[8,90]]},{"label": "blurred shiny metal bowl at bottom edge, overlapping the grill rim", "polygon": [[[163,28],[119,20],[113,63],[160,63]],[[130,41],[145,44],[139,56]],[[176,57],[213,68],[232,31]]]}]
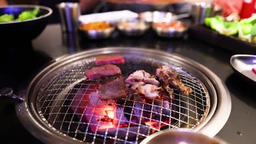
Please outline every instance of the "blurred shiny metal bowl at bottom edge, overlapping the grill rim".
[{"label": "blurred shiny metal bowl at bottom edge, overlapping the grill rim", "polygon": [[227,144],[223,140],[211,138],[193,131],[159,131],[144,139],[141,144]]}]

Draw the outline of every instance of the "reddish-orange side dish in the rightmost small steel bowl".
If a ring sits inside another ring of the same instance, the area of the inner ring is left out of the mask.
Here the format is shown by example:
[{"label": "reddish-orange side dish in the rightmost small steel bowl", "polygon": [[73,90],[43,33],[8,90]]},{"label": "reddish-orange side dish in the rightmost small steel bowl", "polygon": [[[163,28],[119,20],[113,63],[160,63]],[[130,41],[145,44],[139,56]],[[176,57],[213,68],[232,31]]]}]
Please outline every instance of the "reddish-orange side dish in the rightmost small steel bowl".
[{"label": "reddish-orange side dish in the rightmost small steel bowl", "polygon": [[181,21],[172,21],[172,22],[157,22],[154,23],[154,27],[160,27],[163,29],[176,29],[176,30],[183,30],[185,28],[185,26],[183,25],[183,23]]}]

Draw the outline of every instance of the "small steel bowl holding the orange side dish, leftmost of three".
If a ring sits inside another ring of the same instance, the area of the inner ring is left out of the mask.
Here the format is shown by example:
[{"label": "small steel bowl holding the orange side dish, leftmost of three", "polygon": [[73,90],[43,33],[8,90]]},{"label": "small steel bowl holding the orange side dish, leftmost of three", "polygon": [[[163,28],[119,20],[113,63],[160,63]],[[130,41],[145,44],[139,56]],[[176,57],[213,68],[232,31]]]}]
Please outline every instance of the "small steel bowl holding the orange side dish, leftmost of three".
[{"label": "small steel bowl holding the orange side dish, leftmost of three", "polygon": [[79,28],[79,33],[88,39],[107,39],[114,32],[115,27],[110,27],[104,30],[89,30],[85,31]]}]

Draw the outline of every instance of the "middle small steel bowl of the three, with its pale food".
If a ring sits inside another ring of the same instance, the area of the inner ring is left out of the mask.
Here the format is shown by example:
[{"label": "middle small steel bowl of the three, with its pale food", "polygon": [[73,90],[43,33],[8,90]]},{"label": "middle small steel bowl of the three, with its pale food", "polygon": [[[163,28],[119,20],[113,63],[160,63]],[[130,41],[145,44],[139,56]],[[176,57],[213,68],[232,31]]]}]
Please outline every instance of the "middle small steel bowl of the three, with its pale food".
[{"label": "middle small steel bowl of the three, with its pale food", "polygon": [[143,20],[120,21],[117,25],[119,31],[126,36],[140,36],[149,29],[149,23]]}]

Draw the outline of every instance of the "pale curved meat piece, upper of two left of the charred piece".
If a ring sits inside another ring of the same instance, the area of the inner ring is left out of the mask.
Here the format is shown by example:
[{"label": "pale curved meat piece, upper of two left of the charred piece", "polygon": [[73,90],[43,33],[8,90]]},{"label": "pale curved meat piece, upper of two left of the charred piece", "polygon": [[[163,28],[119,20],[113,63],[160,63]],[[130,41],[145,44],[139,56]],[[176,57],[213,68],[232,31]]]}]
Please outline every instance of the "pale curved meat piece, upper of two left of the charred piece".
[{"label": "pale curved meat piece, upper of two left of the charred piece", "polygon": [[155,86],[159,86],[160,84],[159,81],[156,80],[154,76],[150,75],[144,70],[137,70],[126,79],[126,82],[130,85],[134,85],[135,83],[141,81]]}]

